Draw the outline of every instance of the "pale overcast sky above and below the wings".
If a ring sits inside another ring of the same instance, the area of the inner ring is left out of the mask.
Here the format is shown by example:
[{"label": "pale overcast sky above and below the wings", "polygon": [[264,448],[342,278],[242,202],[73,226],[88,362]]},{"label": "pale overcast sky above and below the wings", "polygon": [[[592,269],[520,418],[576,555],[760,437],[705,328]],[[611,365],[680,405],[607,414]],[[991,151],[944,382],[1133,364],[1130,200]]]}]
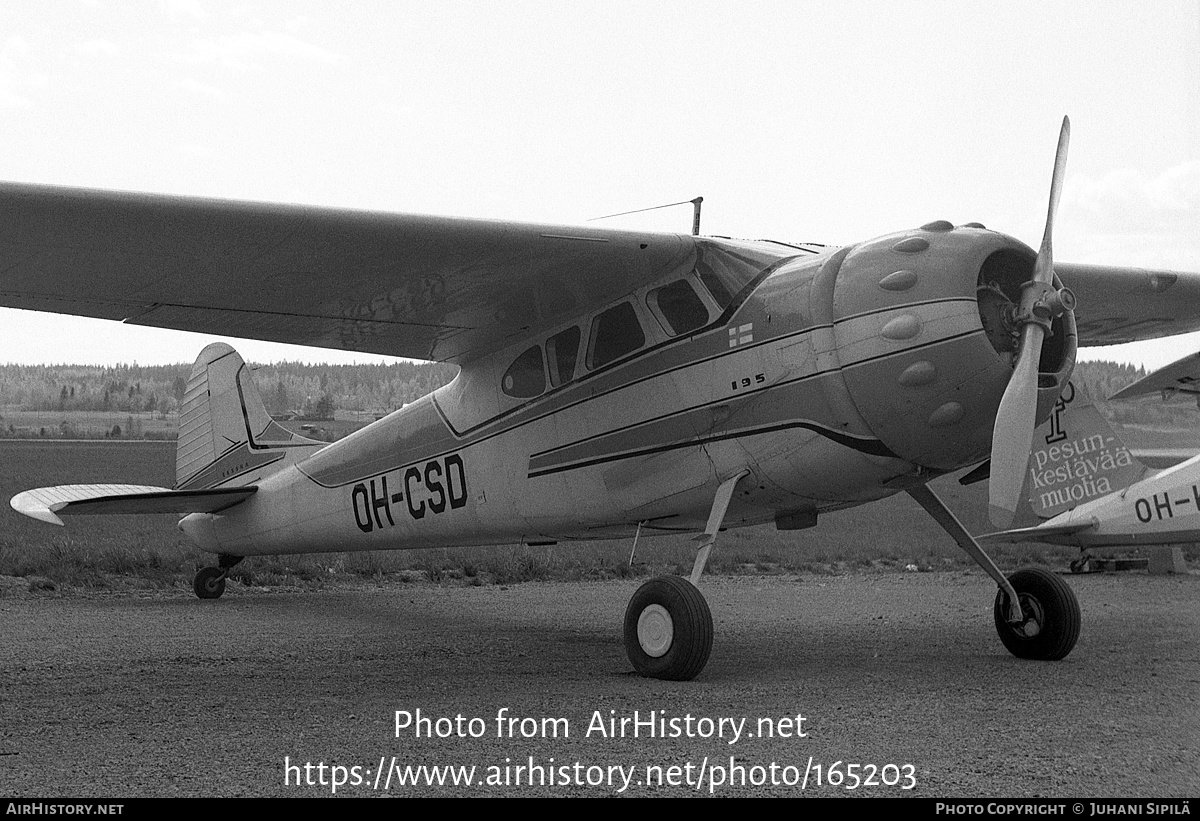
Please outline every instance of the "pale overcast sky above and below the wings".
[{"label": "pale overcast sky above and below the wings", "polygon": [[[703,196],[706,233],[850,244],[946,218],[1036,247],[1063,114],[1056,258],[1200,271],[1196,0],[0,4],[16,181],[541,222]],[[0,311],[0,361],[208,341]]]}]

